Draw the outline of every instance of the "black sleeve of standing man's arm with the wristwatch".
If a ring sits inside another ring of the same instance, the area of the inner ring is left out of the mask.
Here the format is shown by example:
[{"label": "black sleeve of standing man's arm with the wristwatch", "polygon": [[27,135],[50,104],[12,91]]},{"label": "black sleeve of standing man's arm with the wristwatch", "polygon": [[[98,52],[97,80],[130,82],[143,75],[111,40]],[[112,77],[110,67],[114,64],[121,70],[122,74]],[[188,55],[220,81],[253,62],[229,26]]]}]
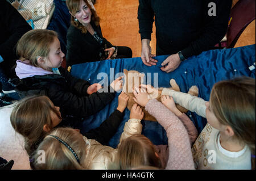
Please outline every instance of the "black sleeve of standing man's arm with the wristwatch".
[{"label": "black sleeve of standing man's arm with the wristwatch", "polygon": [[[209,16],[208,7],[210,2],[216,4],[216,16]],[[232,6],[232,0],[207,0],[204,4],[205,27],[200,37],[181,51],[185,58],[200,54],[205,50],[209,50],[225,36],[228,28],[229,14]]]}]

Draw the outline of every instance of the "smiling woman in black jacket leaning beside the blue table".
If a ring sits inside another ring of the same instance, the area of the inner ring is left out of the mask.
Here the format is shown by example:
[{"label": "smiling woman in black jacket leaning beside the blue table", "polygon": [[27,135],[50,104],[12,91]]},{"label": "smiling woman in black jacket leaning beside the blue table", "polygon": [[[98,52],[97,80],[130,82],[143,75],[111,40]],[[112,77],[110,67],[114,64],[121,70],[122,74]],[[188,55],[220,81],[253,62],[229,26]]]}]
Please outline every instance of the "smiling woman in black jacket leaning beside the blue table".
[{"label": "smiling woman in black jacket leaning beside the blue table", "polygon": [[131,58],[129,47],[112,45],[102,36],[100,18],[88,0],[67,0],[71,26],[67,34],[67,65]]}]

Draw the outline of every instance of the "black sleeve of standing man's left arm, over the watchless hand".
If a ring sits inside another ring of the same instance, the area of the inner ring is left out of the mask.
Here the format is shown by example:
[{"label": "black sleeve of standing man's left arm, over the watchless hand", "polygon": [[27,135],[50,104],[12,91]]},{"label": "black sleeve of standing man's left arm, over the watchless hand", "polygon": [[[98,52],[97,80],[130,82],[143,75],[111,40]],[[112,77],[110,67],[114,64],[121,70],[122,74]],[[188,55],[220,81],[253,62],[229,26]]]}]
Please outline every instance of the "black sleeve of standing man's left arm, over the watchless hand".
[{"label": "black sleeve of standing man's left arm, over the watchless hand", "polygon": [[154,15],[155,14],[151,8],[150,0],[139,0],[138,20],[139,20],[139,33],[141,33],[141,39],[151,40]]}]

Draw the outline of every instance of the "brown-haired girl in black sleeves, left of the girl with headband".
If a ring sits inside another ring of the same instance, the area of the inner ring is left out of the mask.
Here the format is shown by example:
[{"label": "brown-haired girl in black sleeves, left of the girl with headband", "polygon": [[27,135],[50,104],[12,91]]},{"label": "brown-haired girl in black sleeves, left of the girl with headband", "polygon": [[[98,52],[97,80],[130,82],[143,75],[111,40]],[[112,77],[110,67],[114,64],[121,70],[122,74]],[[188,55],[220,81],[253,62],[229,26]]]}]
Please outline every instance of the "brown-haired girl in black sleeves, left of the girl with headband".
[{"label": "brown-haired girl in black sleeves, left of the girl with headband", "polygon": [[[121,93],[118,97],[118,107],[100,127],[83,133],[89,139],[101,144],[108,144],[123,120],[123,111],[126,108],[128,96]],[[31,168],[32,153],[38,148],[40,142],[55,127],[73,127],[79,121],[76,117],[62,116],[60,108],[54,106],[47,96],[28,96],[15,104],[10,116],[14,130],[24,137],[24,148],[30,157]]]}]

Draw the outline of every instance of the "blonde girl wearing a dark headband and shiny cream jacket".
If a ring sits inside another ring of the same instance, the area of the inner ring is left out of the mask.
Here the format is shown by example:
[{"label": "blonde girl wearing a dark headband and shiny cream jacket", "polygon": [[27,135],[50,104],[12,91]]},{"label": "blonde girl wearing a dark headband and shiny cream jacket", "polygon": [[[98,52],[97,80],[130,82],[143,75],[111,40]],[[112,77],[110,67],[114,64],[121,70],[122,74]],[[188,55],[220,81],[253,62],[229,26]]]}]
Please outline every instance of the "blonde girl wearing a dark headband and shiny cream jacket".
[{"label": "blonde girl wearing a dark headband and shiny cream jacket", "polygon": [[[134,104],[120,142],[141,133],[143,116],[142,108]],[[74,129],[56,128],[40,143],[33,160],[35,169],[119,169],[117,150],[88,139]],[[40,159],[42,151],[46,155],[44,163]]]}]

